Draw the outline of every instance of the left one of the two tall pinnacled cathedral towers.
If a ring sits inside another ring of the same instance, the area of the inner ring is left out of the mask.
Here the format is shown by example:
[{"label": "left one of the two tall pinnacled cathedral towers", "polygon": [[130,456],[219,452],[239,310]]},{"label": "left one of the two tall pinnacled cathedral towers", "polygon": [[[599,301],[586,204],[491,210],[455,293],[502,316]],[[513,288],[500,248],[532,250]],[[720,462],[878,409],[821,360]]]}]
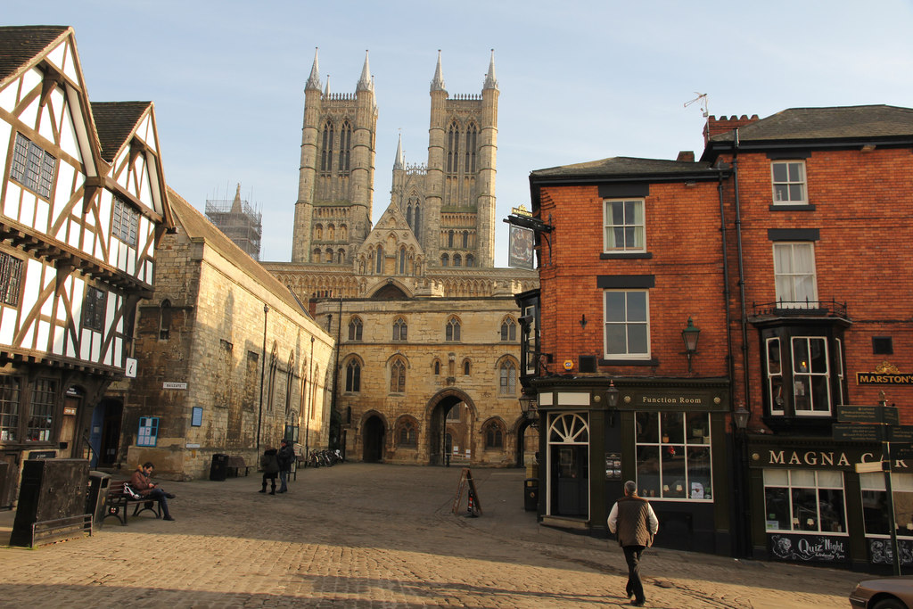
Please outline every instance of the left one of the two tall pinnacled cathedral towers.
[{"label": "left one of the two tall pinnacled cathedral towers", "polygon": [[320,92],[317,51],[304,89],[292,262],[352,263],[371,231],[377,104],[365,51],[355,93]]}]

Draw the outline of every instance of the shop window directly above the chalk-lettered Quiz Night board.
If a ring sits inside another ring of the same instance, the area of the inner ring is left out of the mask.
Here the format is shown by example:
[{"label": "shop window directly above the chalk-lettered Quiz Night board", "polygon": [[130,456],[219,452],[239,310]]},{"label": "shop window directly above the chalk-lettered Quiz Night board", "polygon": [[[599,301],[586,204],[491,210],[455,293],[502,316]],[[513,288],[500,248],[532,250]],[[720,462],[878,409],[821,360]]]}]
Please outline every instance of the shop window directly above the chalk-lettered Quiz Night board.
[{"label": "shop window directly above the chalk-lettered Quiz Night board", "polygon": [[765,469],[768,531],[845,533],[844,474],[815,469]]}]

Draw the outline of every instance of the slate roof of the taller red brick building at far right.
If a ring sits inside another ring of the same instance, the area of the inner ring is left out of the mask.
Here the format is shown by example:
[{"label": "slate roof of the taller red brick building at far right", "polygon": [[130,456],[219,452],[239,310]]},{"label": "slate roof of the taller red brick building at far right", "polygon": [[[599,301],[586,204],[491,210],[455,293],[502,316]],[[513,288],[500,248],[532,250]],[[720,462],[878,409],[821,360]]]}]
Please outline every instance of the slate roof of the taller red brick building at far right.
[{"label": "slate roof of the taller red brick building at far right", "polygon": [[[739,142],[858,140],[913,136],[913,109],[897,106],[790,108],[739,129]],[[732,131],[710,138],[732,142]]]}]

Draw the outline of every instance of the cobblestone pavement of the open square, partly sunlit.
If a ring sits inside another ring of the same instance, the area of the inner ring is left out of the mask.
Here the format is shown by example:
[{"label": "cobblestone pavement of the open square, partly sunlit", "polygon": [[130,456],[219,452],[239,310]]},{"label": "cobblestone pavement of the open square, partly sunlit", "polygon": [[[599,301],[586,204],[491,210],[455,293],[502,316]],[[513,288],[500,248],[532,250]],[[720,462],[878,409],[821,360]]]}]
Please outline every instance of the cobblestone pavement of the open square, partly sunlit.
[{"label": "cobblestone pavement of the open square, partly sunlit", "polygon": [[[146,512],[91,537],[0,547],[0,606],[627,606],[614,541],[540,526],[519,469],[474,469],[483,515],[455,516],[460,472],[346,463],[302,470],[277,496],[257,493],[253,473],[166,481],[175,522]],[[0,542],[13,520],[0,512]],[[661,549],[643,571],[647,606],[669,609],[848,607],[864,578]]]}]

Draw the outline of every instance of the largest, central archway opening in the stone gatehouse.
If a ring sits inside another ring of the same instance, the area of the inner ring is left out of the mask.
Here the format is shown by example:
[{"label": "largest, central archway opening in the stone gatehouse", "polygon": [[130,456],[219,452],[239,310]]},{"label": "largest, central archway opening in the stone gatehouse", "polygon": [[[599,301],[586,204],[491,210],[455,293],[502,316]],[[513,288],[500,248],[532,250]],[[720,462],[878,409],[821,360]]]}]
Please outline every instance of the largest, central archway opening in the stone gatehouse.
[{"label": "largest, central archway opening in the stone gatehouse", "polygon": [[457,389],[445,389],[426,408],[428,465],[449,465],[456,457],[468,463],[475,450],[476,404]]}]

